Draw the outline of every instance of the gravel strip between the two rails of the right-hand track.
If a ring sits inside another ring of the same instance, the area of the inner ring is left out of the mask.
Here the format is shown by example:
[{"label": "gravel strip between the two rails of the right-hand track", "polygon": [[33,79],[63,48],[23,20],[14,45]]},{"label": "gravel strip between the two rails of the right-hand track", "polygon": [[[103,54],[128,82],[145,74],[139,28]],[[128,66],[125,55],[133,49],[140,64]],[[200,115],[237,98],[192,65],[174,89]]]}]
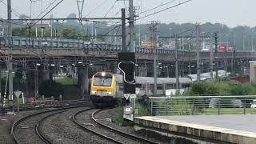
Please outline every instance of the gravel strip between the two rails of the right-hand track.
[{"label": "gravel strip between the two rails of the right-hand track", "polygon": [[[106,129],[102,129],[101,126],[98,126],[97,124],[95,124],[94,122],[92,122],[91,118],[90,118],[90,115],[96,110],[89,110],[89,111],[86,111],[82,114],[78,114],[77,116],[77,119],[78,119],[78,122],[80,123],[84,123],[86,125],[87,128],[90,128],[90,130],[94,130],[100,134],[104,134],[106,136],[108,136],[109,138],[114,138],[116,140],[118,140],[119,142],[124,142],[124,143],[140,143],[138,141],[134,141],[134,140],[131,140],[130,138],[125,138],[123,137],[122,135],[118,135],[118,134],[115,134],[113,132],[110,132],[109,130],[106,130]],[[107,116],[103,116],[103,117],[107,117]]]}]

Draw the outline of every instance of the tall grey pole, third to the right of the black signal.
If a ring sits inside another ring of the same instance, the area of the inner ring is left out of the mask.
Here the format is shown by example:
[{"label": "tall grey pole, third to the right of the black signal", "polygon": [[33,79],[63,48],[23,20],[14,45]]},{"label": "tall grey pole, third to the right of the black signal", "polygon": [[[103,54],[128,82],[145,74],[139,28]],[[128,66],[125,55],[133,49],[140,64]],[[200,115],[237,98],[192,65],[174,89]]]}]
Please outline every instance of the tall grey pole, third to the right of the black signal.
[{"label": "tall grey pole, third to the right of the black signal", "polygon": [[200,34],[200,30],[199,30],[199,25],[196,26],[196,47],[197,47],[197,80],[198,82],[200,81],[200,73],[201,73],[201,68],[200,68],[200,50],[201,50],[201,45],[200,45],[200,41],[199,41],[199,34]]}]

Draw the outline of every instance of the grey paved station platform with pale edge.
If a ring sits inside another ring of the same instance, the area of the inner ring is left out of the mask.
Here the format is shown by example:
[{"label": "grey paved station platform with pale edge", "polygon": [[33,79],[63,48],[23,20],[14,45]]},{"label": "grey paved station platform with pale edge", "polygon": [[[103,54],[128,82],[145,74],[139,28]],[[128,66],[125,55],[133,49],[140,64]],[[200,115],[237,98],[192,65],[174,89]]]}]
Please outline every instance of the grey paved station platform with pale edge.
[{"label": "grey paved station platform with pale edge", "polygon": [[256,115],[155,116],[134,118],[136,126],[161,133],[186,134],[213,141],[256,143]]}]

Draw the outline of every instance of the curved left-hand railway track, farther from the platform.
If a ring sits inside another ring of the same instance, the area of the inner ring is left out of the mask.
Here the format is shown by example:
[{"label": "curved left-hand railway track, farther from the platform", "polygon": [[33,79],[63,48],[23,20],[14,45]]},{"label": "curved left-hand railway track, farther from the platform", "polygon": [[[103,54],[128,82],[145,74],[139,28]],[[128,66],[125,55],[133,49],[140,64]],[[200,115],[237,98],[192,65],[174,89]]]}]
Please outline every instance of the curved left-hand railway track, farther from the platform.
[{"label": "curved left-hand railway track, farther from the platform", "polygon": [[[48,143],[50,140],[44,137],[40,127],[46,118],[53,117],[55,114],[61,114],[70,109],[81,108],[86,106],[70,106],[54,110],[45,110],[36,114],[30,114],[24,118],[19,119],[11,128],[14,142],[21,143]],[[26,140],[25,140],[26,139]]]}]

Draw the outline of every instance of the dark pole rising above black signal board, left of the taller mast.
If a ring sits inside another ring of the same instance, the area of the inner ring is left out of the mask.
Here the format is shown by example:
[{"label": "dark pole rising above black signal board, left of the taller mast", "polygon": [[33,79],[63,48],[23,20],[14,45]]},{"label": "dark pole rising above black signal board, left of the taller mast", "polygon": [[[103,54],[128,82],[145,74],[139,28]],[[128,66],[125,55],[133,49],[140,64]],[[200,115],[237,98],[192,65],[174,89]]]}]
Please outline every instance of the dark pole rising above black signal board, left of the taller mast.
[{"label": "dark pole rising above black signal board, left of the taller mast", "polygon": [[122,8],[122,51],[126,49],[126,9]]}]

